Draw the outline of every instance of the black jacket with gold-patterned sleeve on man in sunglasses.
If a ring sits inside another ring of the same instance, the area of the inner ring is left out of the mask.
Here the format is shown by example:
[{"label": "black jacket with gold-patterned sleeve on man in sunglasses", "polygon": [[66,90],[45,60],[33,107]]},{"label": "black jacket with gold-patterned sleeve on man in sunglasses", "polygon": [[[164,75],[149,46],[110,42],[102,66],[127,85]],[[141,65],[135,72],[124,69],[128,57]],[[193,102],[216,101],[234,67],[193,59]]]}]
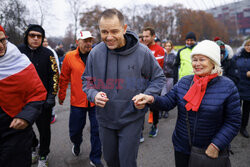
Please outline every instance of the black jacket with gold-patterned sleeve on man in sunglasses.
[{"label": "black jacket with gold-patterned sleeve on man in sunglasses", "polygon": [[25,44],[20,45],[18,49],[27,55],[30,61],[34,64],[37,73],[48,92],[46,101],[52,105],[52,103],[55,103],[59,77],[58,67],[53,52],[43,46],[32,50]]}]

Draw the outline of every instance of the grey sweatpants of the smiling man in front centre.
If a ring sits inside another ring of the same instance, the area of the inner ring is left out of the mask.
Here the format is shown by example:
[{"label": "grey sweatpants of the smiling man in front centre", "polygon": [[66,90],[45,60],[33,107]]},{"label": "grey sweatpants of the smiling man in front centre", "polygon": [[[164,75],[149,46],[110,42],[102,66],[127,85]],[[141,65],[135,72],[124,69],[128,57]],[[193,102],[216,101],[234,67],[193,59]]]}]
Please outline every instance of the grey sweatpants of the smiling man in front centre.
[{"label": "grey sweatpants of the smiling man in front centre", "polygon": [[108,167],[136,167],[143,119],[121,129],[100,126],[103,155]]}]

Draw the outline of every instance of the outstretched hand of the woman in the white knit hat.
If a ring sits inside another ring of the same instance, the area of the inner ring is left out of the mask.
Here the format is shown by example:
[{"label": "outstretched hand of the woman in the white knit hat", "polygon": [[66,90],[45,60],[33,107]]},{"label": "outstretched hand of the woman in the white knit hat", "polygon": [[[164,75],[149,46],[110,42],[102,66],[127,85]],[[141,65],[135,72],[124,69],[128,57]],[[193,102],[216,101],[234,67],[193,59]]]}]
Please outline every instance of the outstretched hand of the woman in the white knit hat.
[{"label": "outstretched hand of the woman in the white knit hat", "polygon": [[134,105],[137,109],[143,109],[147,103],[151,104],[154,102],[154,97],[140,93],[132,98]]}]

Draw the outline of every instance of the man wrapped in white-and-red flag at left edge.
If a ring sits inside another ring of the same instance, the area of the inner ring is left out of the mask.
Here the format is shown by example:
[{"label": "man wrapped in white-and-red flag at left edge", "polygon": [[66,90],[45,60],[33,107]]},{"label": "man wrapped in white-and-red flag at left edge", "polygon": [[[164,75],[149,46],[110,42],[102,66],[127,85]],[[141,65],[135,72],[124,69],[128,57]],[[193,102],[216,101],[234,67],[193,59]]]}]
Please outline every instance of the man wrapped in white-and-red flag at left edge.
[{"label": "man wrapped in white-and-red flag at left edge", "polygon": [[30,167],[32,124],[46,99],[34,65],[0,26],[0,165]]}]

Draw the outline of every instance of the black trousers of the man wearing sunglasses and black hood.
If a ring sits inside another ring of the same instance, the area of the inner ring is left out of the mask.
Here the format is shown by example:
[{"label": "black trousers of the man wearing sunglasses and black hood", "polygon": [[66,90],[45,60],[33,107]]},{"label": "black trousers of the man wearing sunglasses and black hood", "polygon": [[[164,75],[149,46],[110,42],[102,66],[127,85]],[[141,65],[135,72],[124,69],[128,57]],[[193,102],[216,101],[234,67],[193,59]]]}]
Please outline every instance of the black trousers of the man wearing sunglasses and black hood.
[{"label": "black trousers of the man wearing sunglasses and black hood", "polygon": [[[52,108],[43,108],[42,113],[39,115],[36,120],[36,126],[40,136],[40,156],[47,156],[50,152],[50,140],[51,140],[51,130],[50,130],[50,121],[51,121]],[[33,144],[32,147],[38,145],[38,139],[35,132],[33,131]]]}]

